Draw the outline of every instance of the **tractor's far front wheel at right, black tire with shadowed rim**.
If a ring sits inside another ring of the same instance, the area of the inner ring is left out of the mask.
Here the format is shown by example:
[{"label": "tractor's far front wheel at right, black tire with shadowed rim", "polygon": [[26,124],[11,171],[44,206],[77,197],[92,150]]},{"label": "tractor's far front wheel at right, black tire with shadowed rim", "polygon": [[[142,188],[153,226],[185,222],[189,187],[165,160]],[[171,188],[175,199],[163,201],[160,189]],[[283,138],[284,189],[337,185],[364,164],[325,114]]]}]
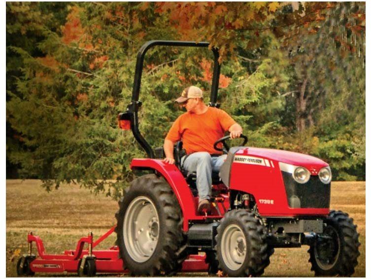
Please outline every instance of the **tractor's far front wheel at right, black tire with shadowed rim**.
[{"label": "tractor's far front wheel at right, black tire with shadowed rim", "polygon": [[[347,213],[331,210],[323,234],[310,245],[309,262],[315,276],[348,276],[358,264],[359,234],[353,219]],[[322,236],[331,237],[322,239]]]}]

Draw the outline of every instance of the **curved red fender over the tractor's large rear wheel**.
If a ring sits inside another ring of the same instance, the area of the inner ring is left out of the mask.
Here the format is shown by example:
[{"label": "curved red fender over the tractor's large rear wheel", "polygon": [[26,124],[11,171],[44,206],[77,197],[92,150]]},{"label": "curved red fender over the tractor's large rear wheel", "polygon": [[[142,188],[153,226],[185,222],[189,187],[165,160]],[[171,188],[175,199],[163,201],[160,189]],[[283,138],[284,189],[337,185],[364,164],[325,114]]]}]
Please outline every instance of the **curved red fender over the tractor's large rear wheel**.
[{"label": "curved red fender over the tractor's large rear wheel", "polygon": [[185,178],[174,164],[164,163],[159,159],[133,159],[131,169],[156,170],[164,176],[172,188],[183,214],[183,230],[189,230],[189,220],[203,220],[205,216],[197,215],[197,206]]}]

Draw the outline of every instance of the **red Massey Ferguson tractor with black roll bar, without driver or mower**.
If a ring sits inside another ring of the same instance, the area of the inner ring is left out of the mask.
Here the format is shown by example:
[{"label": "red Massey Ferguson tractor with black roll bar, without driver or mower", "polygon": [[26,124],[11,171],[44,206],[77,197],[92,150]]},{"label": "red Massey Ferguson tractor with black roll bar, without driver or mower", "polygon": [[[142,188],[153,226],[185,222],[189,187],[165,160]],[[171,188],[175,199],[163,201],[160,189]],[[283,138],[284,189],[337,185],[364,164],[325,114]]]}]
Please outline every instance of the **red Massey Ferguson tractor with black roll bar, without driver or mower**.
[{"label": "red Massey Ferguson tractor with black roll bar, without driver or mower", "polygon": [[[171,275],[192,254],[205,252],[209,271],[230,277],[260,276],[275,247],[309,245],[316,276],[350,276],[359,256],[359,234],[348,214],[330,210],[331,169],[304,154],[238,146],[219,139],[215,149],[227,159],[213,174],[210,214],[197,213],[196,174],[180,169],[182,143],[174,148],[176,164],[164,163],[138,130],[137,112],[143,60],[156,45],[207,47],[207,42],[149,41],[137,55],[132,102],[119,115],[119,126],[131,129],[148,158],[133,159],[137,177],[119,202],[117,243],[124,267],[133,275]],[[218,50],[210,106],[218,106]],[[244,145],[247,138],[244,137]],[[222,144],[219,144],[222,142]],[[223,146],[220,148],[219,146]]]}]

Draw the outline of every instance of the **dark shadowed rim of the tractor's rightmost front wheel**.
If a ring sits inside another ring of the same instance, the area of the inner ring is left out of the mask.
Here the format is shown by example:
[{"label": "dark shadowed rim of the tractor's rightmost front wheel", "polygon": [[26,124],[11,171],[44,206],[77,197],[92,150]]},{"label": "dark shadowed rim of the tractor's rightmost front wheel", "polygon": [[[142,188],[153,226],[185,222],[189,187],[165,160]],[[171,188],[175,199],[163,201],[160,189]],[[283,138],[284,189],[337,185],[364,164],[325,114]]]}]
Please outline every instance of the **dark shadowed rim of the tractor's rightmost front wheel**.
[{"label": "dark shadowed rim of the tractor's rightmost front wheel", "polygon": [[[327,237],[324,239],[322,236]],[[320,236],[320,240],[316,242],[315,261],[323,270],[333,268],[338,261],[340,253],[340,239],[337,230],[333,226],[327,226],[324,233]]]}]

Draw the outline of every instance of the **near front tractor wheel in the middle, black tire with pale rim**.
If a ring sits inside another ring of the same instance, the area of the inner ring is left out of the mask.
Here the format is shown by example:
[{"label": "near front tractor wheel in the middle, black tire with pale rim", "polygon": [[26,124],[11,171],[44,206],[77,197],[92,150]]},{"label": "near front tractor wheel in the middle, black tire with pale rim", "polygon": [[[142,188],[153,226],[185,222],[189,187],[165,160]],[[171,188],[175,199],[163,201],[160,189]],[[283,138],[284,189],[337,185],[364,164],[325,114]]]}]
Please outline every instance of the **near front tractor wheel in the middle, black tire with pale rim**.
[{"label": "near front tractor wheel in the middle, black tire with pale rim", "polygon": [[[235,236],[238,236],[238,244],[233,240]],[[229,239],[227,244],[225,239]],[[273,249],[266,243],[266,228],[249,210],[227,212],[217,228],[216,242],[219,268],[229,277],[260,276],[270,264]],[[236,247],[233,248],[233,245]],[[239,259],[234,255],[238,255]]]}]

